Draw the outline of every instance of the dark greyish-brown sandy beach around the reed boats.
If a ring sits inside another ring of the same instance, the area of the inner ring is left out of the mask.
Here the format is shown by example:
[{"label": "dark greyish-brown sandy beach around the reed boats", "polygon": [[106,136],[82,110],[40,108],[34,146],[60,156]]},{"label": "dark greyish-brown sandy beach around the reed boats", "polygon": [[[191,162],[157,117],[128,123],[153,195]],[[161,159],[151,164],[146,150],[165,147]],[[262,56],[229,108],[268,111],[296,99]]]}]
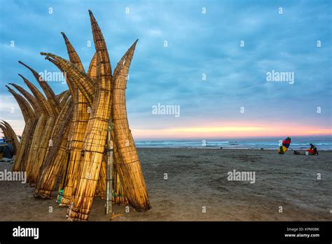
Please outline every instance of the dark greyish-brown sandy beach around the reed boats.
[{"label": "dark greyish-brown sandy beach around the reed boats", "polygon": [[[297,156],[276,150],[139,149],[139,156],[153,208],[127,213],[116,206],[116,221],[332,220],[332,151]],[[0,163],[1,171],[11,167]],[[233,170],[255,172],[255,182],[229,181]],[[0,220],[66,221],[67,208],[57,206],[56,192],[44,200],[33,191],[28,184],[1,181]],[[109,219],[104,200],[95,198],[89,220]]]}]

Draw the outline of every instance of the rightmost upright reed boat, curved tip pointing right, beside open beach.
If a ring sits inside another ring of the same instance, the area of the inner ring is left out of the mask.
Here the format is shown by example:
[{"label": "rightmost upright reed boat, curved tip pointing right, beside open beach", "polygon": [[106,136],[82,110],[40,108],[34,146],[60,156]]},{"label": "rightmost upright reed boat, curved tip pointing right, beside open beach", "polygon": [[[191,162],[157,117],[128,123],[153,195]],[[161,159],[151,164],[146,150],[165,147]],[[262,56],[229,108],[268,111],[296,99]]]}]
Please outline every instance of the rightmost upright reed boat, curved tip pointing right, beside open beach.
[{"label": "rightmost upright reed boat, curved tip pointing right, beside open beach", "polygon": [[148,201],[144,176],[141,172],[141,163],[130,132],[125,107],[126,78],[136,43],[137,41],[125,53],[125,56],[120,60],[114,72],[112,84],[112,117],[118,151],[120,151],[121,158],[123,159],[116,168],[120,171],[120,179],[130,205],[136,210],[141,211],[150,209],[151,205]]}]

